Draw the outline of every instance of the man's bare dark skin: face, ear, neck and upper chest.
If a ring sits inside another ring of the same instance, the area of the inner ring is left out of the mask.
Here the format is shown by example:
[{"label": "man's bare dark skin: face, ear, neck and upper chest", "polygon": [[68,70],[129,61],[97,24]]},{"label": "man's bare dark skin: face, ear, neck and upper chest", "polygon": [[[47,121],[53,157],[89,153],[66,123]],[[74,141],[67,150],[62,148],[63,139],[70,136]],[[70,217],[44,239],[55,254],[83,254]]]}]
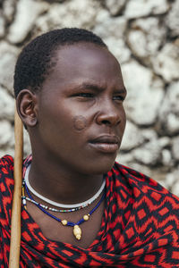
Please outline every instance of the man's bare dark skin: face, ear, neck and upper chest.
[{"label": "man's bare dark skin: face, ear, neck and upper chest", "polygon": [[[22,90],[17,106],[30,134],[31,186],[55,202],[74,204],[98,191],[103,174],[115,162],[124,135],[126,90],[120,65],[107,48],[90,43],[63,46],[57,49],[55,62],[42,88],[37,93]],[[99,198],[80,211],[54,214],[77,222]],[[28,212],[48,239],[89,247],[100,229],[104,202],[81,224],[80,241],[71,227],[35,205],[28,203]]]}]

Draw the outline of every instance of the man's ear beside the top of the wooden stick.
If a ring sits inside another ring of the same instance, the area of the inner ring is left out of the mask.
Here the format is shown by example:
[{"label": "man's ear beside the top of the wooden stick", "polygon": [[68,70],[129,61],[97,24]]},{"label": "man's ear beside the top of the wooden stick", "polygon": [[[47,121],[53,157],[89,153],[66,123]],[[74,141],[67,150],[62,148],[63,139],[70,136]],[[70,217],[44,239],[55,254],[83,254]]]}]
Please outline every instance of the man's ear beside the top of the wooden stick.
[{"label": "man's ear beside the top of the wooden stick", "polygon": [[17,112],[26,127],[35,127],[38,123],[38,96],[29,89],[23,89],[16,99]]}]

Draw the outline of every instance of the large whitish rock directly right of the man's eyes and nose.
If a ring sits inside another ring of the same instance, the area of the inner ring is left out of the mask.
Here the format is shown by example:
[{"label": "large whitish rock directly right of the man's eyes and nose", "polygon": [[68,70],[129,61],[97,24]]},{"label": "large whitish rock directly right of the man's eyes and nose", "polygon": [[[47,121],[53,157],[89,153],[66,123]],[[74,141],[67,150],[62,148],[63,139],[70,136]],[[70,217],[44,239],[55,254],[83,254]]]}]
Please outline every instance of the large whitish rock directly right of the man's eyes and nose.
[{"label": "large whitish rock directly right of the man's eyes and nose", "polygon": [[124,63],[122,72],[128,90],[125,107],[129,119],[142,126],[153,124],[164,96],[162,80],[134,61]]}]

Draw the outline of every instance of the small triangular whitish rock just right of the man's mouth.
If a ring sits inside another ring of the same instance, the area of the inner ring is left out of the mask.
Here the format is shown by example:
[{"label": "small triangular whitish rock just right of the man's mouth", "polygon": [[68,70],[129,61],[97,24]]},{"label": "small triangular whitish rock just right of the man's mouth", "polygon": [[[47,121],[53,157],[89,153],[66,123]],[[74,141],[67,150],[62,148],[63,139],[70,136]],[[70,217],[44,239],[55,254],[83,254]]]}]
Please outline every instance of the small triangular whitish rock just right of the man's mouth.
[{"label": "small triangular whitish rock just right of the man's mouth", "polygon": [[144,137],[131,121],[127,121],[122,142],[122,151],[130,151],[135,147],[139,147],[144,142]]}]

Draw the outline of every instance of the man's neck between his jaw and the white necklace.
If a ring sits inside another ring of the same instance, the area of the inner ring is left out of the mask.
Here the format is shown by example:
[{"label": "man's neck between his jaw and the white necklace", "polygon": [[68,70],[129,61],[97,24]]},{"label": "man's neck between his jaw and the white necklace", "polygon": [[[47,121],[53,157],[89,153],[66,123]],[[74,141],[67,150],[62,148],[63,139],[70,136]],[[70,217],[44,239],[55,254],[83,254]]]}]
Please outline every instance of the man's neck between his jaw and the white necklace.
[{"label": "man's neck between his jaw and the white necklace", "polygon": [[[42,160],[43,159],[43,160]],[[100,188],[103,175],[81,174],[52,158],[33,156],[30,185],[38,193],[57,203],[81,203],[94,196]]]}]

